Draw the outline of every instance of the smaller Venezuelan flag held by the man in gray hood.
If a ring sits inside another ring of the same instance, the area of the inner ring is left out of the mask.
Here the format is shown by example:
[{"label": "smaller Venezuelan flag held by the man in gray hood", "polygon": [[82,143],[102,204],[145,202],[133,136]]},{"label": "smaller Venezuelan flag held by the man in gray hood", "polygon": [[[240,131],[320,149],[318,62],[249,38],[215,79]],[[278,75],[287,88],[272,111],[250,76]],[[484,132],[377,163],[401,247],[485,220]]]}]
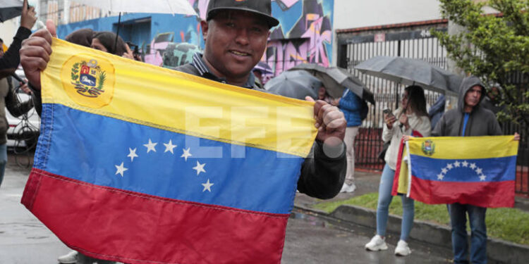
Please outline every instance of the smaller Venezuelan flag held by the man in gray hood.
[{"label": "smaller Venezuelan flag held by the man in gray hood", "polygon": [[518,142],[512,135],[415,137],[407,142],[406,151],[412,199],[429,204],[514,206]]}]

